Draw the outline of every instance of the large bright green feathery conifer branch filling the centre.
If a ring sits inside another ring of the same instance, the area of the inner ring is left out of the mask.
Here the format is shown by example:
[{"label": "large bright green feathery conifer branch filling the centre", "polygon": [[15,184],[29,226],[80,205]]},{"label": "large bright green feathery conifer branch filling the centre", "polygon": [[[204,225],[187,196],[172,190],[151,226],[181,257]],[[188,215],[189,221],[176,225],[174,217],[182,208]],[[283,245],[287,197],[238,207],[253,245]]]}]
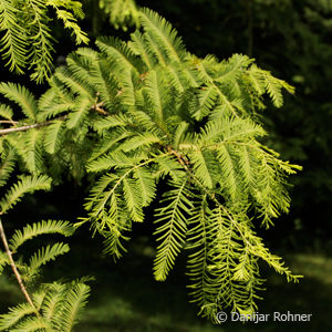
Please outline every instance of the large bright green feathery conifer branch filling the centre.
[{"label": "large bright green feathery conifer branch filling the centre", "polygon": [[[19,123],[17,132],[3,133],[8,166],[1,172],[10,172],[14,154],[27,170],[55,181],[68,169],[76,179],[90,173],[96,180],[82,222],[104,237],[114,258],[125,250],[133,222],[145,220],[159,186],[156,280],[166,279],[186,248],[190,294],[201,315],[216,321],[225,308],[255,312],[259,260],[298,280],[255,231],[257,220],[269,227],[288,211],[286,177],[300,169],[261,144],[267,133],[257,112],[266,94],[280,107],[281,90],[293,89],[246,55],[196,58],[149,10],[139,12],[139,22],[142,31],[128,42],[100,38],[98,52],[72,53],[38,101],[22,87],[0,85],[22,107],[20,122],[32,126]],[[8,106],[0,110],[13,121]]]}]

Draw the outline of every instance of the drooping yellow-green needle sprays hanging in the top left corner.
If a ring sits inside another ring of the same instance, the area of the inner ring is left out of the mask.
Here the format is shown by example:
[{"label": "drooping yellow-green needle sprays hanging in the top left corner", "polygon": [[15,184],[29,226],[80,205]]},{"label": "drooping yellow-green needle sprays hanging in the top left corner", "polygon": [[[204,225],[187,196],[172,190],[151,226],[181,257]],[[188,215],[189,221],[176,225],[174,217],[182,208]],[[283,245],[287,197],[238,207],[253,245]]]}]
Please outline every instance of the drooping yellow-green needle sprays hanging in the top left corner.
[{"label": "drooping yellow-green needle sprays hanging in the top left corner", "polygon": [[0,40],[2,58],[11,71],[23,74],[32,70],[31,79],[41,82],[52,68],[54,39],[49,28],[50,12],[53,9],[63,25],[76,38],[76,43],[87,43],[89,39],[77,24],[84,17],[80,1],[63,0],[1,0]]}]

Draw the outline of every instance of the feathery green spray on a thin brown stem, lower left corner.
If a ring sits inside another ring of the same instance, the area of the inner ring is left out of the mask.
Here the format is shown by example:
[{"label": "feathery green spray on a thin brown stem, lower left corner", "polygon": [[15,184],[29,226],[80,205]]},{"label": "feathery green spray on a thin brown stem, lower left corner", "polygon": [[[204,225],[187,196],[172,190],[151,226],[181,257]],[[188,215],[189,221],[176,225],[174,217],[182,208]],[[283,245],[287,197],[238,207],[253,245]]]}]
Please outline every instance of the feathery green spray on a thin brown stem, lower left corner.
[{"label": "feathery green spray on a thin brown stem, lower left corner", "polygon": [[[9,151],[9,154],[11,153],[12,149]],[[2,172],[1,174],[2,181],[8,178],[8,173],[13,167],[10,163],[6,159],[4,165],[2,165],[2,170],[7,168],[7,173]],[[1,216],[12,208],[24,194],[40,189],[48,190],[50,185],[51,178],[48,176],[22,175],[20,180],[12,185],[1,199]],[[29,260],[25,257],[18,257],[17,259],[15,256],[22,245],[37,236],[59,234],[68,237],[73,232],[74,228],[69,221],[42,220],[27,225],[22,230],[17,229],[8,241],[0,220],[0,235],[6,249],[4,251],[0,250],[0,273],[6,267],[11,267],[25,299],[30,299],[27,303],[10,308],[8,313],[0,314],[0,331],[72,331],[72,328],[77,323],[77,314],[86,304],[90,287],[83,281],[53,282],[42,284],[35,290],[34,284],[41,267],[58,256],[66,253],[70,250],[69,246],[63,242],[55,242],[52,246],[41,247]],[[29,287],[29,291],[35,290],[31,298],[24,283]]]}]

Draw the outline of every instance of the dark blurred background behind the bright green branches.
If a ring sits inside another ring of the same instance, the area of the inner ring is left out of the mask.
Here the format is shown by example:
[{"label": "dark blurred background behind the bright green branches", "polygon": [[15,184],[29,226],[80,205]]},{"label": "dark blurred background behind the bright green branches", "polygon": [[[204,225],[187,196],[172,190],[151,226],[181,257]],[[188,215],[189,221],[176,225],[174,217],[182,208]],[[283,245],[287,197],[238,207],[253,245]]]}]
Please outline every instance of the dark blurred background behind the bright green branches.
[{"label": "dark blurred background behind the bright green branches", "polygon": [[[332,253],[332,1],[137,0],[136,3],[156,10],[170,21],[190,52],[200,56],[212,53],[220,60],[232,53],[245,53],[255,58],[259,66],[295,86],[295,95],[286,96],[281,110],[272,105],[267,107],[261,121],[271,134],[266,144],[280,152],[283,159],[302,165],[303,172],[290,178],[291,212],[276,220],[276,227],[261,231],[261,235],[277,253],[287,258],[291,252],[287,262],[294,273],[303,273],[307,278],[300,286],[294,286],[284,284],[274,276],[263,294],[266,300],[260,312],[281,311],[280,308],[300,313],[315,312],[314,322],[307,324],[305,331],[329,331],[331,323],[326,311],[331,304],[332,283],[332,261],[329,258]],[[92,41],[96,35],[124,38],[134,30],[134,27],[123,31],[111,25],[97,1],[84,0],[83,4],[86,18],[81,27]],[[75,45],[69,32],[55,21],[52,23],[59,41],[54,65],[59,65]],[[44,91],[43,85],[29,82],[28,76],[11,75],[2,63],[0,75],[1,81],[19,81],[37,94]],[[74,220],[83,215],[80,207],[84,190],[84,186],[64,184],[52,196],[31,197],[25,206],[21,205],[20,211],[12,212],[12,229],[19,227],[22,216],[23,224],[29,218],[35,221],[35,209],[41,218]],[[137,226],[129,255],[117,264],[111,264],[110,259],[100,257],[101,243],[90,239],[87,229],[82,230],[72,246],[75,264],[69,257],[68,261],[63,259],[54,264],[53,270],[50,269],[50,274],[68,278],[75,276],[76,270],[80,270],[76,274],[96,274],[97,291],[80,331],[111,331],[111,328],[112,331],[134,332],[303,330],[303,324],[287,329],[287,325],[281,329],[272,324],[268,328],[264,324],[227,324],[221,328],[197,320],[195,307],[187,303],[186,280],[179,277],[183,273],[178,273],[184,269],[181,263],[167,284],[153,281],[154,239],[151,232],[149,222]],[[18,295],[3,282],[0,280],[0,312]]]}]

